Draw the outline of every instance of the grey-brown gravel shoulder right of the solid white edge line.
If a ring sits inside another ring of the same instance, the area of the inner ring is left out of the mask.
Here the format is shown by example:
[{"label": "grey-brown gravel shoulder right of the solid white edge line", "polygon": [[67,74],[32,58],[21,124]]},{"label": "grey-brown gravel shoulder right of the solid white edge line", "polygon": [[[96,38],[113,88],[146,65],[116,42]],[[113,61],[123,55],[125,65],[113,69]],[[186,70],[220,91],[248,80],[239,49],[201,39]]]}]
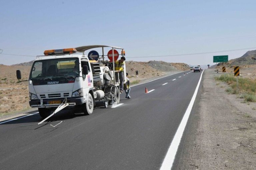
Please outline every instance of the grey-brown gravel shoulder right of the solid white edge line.
[{"label": "grey-brown gravel shoulder right of the solid white edge line", "polygon": [[221,73],[205,69],[175,169],[256,169],[256,104],[244,103],[217,82]]}]

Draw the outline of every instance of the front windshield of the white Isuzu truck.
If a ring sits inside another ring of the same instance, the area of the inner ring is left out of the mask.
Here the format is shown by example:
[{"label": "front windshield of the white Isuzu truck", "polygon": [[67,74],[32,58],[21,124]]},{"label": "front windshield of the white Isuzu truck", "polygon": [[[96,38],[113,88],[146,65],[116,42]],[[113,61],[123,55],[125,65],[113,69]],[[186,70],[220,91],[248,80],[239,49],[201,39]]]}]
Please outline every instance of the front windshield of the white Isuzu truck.
[{"label": "front windshield of the white Isuzu truck", "polygon": [[35,61],[30,79],[52,79],[79,76],[78,58],[58,58]]}]

